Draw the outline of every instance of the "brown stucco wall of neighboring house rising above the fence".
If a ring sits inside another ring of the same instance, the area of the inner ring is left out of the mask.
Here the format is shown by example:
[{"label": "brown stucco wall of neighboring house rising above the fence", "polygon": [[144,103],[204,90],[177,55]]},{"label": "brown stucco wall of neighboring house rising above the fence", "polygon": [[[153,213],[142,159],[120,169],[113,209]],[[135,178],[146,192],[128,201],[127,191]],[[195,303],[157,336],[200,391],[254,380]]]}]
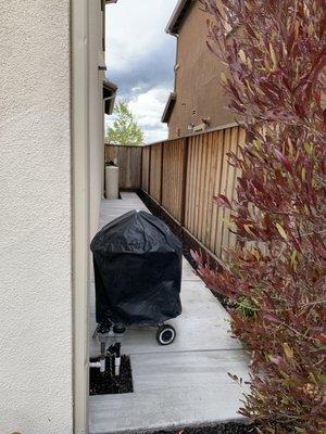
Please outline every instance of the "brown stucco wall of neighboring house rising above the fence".
[{"label": "brown stucco wall of neighboring house rising above the fence", "polygon": [[168,137],[192,133],[188,125],[198,126],[210,119],[208,128],[234,122],[226,108],[227,99],[220,85],[221,73],[226,68],[208,49],[209,15],[192,1],[178,29],[175,71],[176,102],[168,120]]}]

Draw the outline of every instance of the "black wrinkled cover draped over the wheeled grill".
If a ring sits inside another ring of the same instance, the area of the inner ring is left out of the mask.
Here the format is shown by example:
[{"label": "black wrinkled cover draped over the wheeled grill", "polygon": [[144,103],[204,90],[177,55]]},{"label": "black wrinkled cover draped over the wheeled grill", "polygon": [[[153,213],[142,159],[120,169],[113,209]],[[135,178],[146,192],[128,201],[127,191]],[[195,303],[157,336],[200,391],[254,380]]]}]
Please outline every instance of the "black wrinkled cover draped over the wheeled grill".
[{"label": "black wrinkled cover draped over the wheeled grill", "polygon": [[131,210],[90,245],[97,322],[156,324],[181,312],[181,243],[159,218]]}]

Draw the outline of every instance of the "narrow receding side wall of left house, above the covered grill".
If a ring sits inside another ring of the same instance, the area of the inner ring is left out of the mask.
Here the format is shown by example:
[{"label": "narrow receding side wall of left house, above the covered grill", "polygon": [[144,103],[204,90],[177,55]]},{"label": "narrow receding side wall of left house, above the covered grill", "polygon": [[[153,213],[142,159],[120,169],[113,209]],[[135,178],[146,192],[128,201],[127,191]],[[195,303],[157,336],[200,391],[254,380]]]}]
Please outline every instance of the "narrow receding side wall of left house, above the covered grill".
[{"label": "narrow receding side wall of left house, above the covered grill", "polygon": [[[102,11],[101,2],[89,2],[89,145],[90,145],[90,238],[97,232],[100,201],[104,179],[104,112],[103,79],[104,65],[102,51]],[[106,7],[106,11],[110,7]]]}]

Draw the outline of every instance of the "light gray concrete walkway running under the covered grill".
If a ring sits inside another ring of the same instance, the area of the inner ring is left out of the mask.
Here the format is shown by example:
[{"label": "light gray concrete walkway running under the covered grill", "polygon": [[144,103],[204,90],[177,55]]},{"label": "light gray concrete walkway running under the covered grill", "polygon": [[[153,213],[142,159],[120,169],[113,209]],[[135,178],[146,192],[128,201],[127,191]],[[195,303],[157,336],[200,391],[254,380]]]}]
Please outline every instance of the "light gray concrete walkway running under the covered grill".
[{"label": "light gray concrete walkway running under the covered grill", "polygon": [[[103,226],[130,209],[147,209],[134,193],[103,201]],[[95,330],[91,291],[90,333]],[[248,379],[248,360],[228,332],[228,316],[184,258],[183,315],[171,320],[177,331],[172,345],[161,347],[155,329],[127,330],[122,341],[130,355],[134,393],[91,396],[90,434],[226,422],[239,419],[242,390],[227,372]],[[99,345],[90,336],[90,355]]]}]

